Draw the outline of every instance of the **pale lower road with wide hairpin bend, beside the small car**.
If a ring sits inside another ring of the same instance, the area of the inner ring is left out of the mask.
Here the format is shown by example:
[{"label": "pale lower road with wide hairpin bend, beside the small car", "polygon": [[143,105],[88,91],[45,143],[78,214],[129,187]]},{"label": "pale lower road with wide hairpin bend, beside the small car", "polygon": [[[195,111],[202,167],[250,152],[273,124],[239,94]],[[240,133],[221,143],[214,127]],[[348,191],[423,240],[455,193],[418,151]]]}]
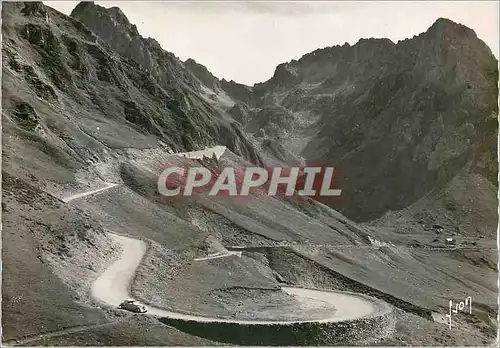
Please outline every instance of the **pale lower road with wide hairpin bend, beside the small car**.
[{"label": "pale lower road with wide hairpin bend, beside the small car", "polygon": [[[130,284],[134,278],[135,271],[139,266],[144,254],[146,253],[146,243],[141,240],[133,239],[113,233],[109,236],[122,247],[122,254],[101,276],[96,279],[92,285],[92,295],[98,301],[109,306],[117,307],[124,299],[132,298],[130,296]],[[172,319],[191,320],[197,322],[227,322],[236,324],[293,324],[305,322],[338,322],[352,319],[359,319],[377,315],[377,312],[384,312],[387,307],[375,299],[367,296],[338,292],[331,290],[317,290],[295,287],[283,287],[282,291],[295,296],[301,303],[308,301],[322,301],[333,307],[331,317],[319,318],[317,320],[292,320],[292,321],[266,321],[266,320],[236,320],[216,318],[200,315],[191,315],[168,311],[165,309],[148,306],[146,315],[156,317],[167,317]]]}]

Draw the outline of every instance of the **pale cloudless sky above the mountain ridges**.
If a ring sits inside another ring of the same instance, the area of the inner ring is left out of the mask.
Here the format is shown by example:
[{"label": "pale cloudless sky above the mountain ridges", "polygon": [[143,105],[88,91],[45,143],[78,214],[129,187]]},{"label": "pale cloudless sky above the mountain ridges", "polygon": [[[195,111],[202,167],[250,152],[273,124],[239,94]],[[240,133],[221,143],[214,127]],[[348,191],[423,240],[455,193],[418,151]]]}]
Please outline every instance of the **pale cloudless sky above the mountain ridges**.
[{"label": "pale cloudless sky above the mountain ridges", "polygon": [[[44,1],[67,15],[78,1]],[[394,42],[439,17],[474,29],[498,58],[498,1],[95,1],[119,7],[144,37],[218,78],[253,85],[280,63],[360,38]]]}]

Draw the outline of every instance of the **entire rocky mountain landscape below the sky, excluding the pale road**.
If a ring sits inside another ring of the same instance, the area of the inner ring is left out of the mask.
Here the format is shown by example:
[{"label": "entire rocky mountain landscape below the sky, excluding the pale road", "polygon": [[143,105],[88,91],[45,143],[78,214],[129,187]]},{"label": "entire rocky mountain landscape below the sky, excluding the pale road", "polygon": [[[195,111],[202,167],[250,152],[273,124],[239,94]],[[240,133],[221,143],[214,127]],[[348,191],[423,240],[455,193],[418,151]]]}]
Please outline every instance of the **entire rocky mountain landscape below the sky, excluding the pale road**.
[{"label": "entire rocky mountain landscape below the sky, excluding the pale road", "polygon": [[[397,45],[318,50],[249,87],[179,61],[118,8],[2,6],[4,340],[236,342],[93,298],[121,252],[109,231],[148,243],[131,290],[162,308],[244,318],[294,302],[279,289],[298,285],[389,303],[395,331],[374,344],[494,340],[497,70],[470,29],[441,19]],[[172,155],[215,144],[228,147],[219,161]],[[157,192],[166,163],[218,172],[304,160],[338,168],[347,217],[311,200]],[[193,261],[214,245],[243,255]],[[432,320],[468,295],[472,316],[452,329]]]}]

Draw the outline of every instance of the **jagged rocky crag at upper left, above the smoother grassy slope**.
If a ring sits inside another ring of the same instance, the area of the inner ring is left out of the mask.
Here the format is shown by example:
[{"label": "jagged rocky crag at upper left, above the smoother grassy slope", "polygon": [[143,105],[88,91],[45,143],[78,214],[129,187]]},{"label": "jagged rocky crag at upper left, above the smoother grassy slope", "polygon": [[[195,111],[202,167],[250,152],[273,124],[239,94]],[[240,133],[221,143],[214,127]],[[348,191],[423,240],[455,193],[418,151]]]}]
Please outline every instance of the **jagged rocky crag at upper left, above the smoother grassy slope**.
[{"label": "jagged rocky crag at upper left, above the smoother grassy slope", "polygon": [[[237,125],[200,97],[198,79],[155,40],[142,38],[118,8],[80,3],[73,19],[41,3],[23,3],[7,4],[5,13],[7,84],[32,91],[69,123],[87,123],[86,113],[106,120],[95,136],[98,143],[113,147],[111,143],[125,139],[121,133],[126,130],[137,134],[126,136],[130,146],[148,138],[171,149],[193,150],[219,144],[224,134],[223,145],[258,162],[248,140],[236,139],[243,137],[235,131]],[[9,98],[4,110],[18,115],[13,121],[21,117],[20,124],[28,128],[47,127],[48,120],[35,115],[27,99],[26,94]],[[107,125],[121,126],[107,133]],[[78,145],[70,147],[82,151]]]}]

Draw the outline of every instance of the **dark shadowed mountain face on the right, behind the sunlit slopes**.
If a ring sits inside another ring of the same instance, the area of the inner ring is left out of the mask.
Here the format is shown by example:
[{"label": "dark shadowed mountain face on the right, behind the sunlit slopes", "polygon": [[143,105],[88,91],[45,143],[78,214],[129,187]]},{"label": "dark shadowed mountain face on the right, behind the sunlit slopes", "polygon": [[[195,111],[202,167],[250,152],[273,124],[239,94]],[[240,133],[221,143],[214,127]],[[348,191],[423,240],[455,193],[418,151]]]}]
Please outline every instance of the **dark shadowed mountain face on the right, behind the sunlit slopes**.
[{"label": "dark shadowed mountain face on the right, behind the sunlit slopes", "polygon": [[[447,19],[394,44],[362,39],[276,68],[233,113],[257,138],[337,168],[341,210],[404,208],[465,166],[496,183],[497,61]],[[248,117],[254,113],[255,116]]]}]

